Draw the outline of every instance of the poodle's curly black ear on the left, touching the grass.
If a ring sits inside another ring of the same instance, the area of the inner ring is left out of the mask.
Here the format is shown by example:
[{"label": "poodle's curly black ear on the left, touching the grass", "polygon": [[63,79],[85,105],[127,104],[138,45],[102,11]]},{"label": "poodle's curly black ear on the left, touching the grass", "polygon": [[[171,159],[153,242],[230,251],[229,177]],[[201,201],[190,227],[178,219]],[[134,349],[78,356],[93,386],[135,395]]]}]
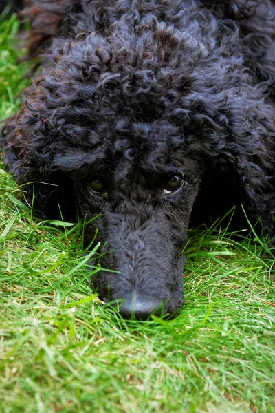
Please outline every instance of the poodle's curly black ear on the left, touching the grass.
[{"label": "poodle's curly black ear on the left, touching the grass", "polygon": [[5,120],[0,129],[0,148],[4,168],[13,173],[25,202],[41,218],[76,219],[74,183],[64,173],[41,171],[39,163],[30,158],[36,149],[22,136],[15,115]]}]

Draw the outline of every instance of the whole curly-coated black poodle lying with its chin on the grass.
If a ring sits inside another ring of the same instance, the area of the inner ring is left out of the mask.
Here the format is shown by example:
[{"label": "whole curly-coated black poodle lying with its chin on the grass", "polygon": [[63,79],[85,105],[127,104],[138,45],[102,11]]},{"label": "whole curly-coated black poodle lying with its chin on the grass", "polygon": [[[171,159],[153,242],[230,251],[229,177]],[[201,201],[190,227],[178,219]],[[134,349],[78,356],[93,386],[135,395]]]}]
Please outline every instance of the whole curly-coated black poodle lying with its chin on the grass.
[{"label": "whole curly-coated black poodle lying with its chin on the grass", "polygon": [[[236,206],[274,233],[270,0],[28,0],[42,70],[1,147],[43,218],[101,241],[100,299],[146,319],[183,301],[192,224]],[[37,59],[36,59],[37,60]],[[260,226],[261,228],[261,226]],[[96,263],[94,263],[96,264]]]}]

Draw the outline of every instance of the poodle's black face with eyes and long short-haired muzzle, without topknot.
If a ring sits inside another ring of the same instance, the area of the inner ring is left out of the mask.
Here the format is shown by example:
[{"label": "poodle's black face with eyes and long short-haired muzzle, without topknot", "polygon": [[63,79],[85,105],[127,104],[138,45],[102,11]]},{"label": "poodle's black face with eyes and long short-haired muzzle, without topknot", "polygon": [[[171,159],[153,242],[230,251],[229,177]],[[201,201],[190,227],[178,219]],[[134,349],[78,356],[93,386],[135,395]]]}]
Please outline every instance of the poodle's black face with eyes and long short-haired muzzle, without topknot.
[{"label": "poodle's black face with eyes and long short-haired muzzle, without topknot", "polygon": [[124,317],[174,314],[183,301],[181,254],[201,167],[184,156],[179,129],[167,120],[109,114],[93,136],[96,149],[86,141],[54,161],[71,176],[78,208],[91,221],[85,244],[98,234],[100,266],[108,271],[92,284],[103,301],[121,301]]}]

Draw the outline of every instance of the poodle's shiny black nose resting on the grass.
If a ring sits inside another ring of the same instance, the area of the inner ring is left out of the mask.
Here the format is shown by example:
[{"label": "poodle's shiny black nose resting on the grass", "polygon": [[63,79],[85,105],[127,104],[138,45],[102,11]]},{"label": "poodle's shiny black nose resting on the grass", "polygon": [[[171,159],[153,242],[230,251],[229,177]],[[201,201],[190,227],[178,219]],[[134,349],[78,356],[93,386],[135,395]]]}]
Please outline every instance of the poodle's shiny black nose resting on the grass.
[{"label": "poodle's shiny black nose resting on the grass", "polygon": [[120,306],[120,314],[124,319],[146,320],[151,314],[164,314],[164,304],[160,299],[150,295],[133,294]]}]

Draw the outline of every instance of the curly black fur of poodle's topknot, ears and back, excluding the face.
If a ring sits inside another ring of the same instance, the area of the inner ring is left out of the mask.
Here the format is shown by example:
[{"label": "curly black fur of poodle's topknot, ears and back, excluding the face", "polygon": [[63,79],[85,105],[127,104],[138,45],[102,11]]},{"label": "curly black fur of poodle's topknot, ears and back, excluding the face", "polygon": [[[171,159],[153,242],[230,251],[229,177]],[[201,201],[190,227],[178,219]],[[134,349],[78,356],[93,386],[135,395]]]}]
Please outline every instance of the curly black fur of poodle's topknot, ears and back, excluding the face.
[{"label": "curly black fur of poodle's topknot, ears and back, excluding the face", "polygon": [[223,208],[243,203],[273,230],[270,1],[202,0],[190,10],[179,0],[138,1],[137,8],[126,0],[113,7],[109,0],[98,3],[29,0],[22,13],[32,26],[30,56],[50,45],[45,69],[3,130],[7,156],[19,184],[26,184],[28,201],[34,188],[43,217],[59,215],[59,207],[72,216],[74,165],[61,167],[61,158],[67,148],[100,156],[109,118],[124,110],[135,123],[162,116],[184,136],[186,153],[204,171],[195,210],[207,200],[205,211],[214,219]]}]

